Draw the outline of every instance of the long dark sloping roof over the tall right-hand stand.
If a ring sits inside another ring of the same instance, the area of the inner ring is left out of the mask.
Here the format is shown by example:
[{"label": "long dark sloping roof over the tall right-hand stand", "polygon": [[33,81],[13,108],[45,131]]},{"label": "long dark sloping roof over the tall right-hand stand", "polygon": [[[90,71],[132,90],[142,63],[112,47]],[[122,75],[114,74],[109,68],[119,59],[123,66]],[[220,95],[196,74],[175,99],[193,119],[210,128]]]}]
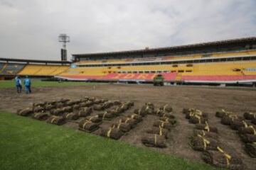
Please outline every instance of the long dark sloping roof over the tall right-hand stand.
[{"label": "long dark sloping roof over the tall right-hand stand", "polygon": [[247,43],[256,44],[256,37],[249,38],[238,38],[232,40],[220,40],[213,42],[203,42],[191,45],[178,45],[173,47],[159,47],[149,48],[144,50],[127,50],[119,52],[99,52],[99,53],[86,53],[86,54],[73,54],[73,57],[102,57],[110,55],[132,55],[132,54],[145,54],[145,53],[156,53],[156,52],[179,52],[186,50],[196,50],[203,48],[208,50],[209,48],[222,48],[222,47],[241,47],[240,45],[246,45]]}]

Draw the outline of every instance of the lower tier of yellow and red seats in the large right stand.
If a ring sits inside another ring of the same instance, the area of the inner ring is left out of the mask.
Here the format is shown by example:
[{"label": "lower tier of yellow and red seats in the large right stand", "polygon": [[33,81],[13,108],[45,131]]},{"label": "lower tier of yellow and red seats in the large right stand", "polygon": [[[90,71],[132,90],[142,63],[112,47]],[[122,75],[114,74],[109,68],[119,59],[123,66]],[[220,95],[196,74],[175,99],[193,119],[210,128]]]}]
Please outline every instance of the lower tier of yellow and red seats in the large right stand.
[{"label": "lower tier of yellow and red seats in the large right stand", "polygon": [[[255,69],[253,69],[255,68]],[[195,64],[133,65],[124,67],[70,68],[58,77],[64,79],[101,79],[151,81],[163,74],[166,81],[241,81],[255,79],[256,62],[209,62]]]}]

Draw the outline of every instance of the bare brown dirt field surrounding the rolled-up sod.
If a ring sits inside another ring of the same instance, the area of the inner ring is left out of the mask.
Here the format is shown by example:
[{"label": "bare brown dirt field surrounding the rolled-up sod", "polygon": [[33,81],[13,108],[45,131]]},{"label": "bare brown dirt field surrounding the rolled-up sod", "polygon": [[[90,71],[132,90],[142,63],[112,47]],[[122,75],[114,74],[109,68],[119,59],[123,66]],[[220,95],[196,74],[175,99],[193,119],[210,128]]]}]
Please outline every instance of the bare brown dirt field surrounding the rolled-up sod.
[{"label": "bare brown dirt field surrounding the rolled-up sod", "polygon": [[[16,94],[16,89],[0,89],[0,110],[16,113],[18,108],[29,106],[33,102],[51,101],[58,98],[78,99],[83,96],[106,98],[109,100],[134,101],[126,115],[132,113],[134,108],[141,107],[146,102],[154,103],[156,108],[169,103],[174,108],[174,114],[178,120],[176,127],[171,130],[167,140],[168,147],[154,149],[176,157],[203,162],[201,152],[196,152],[189,146],[189,137],[193,133],[195,125],[188,123],[183,108],[198,108],[209,114],[210,125],[218,127],[220,142],[227,150],[232,150],[242,159],[245,169],[256,169],[255,159],[249,157],[245,152],[244,145],[235,130],[220,124],[220,118],[215,117],[215,112],[224,108],[242,115],[245,111],[256,111],[256,89],[245,88],[218,88],[218,87],[193,87],[193,86],[164,86],[152,85],[129,85],[129,84],[102,84],[92,86],[70,86],[70,87],[43,87],[34,88],[33,94]],[[95,114],[97,112],[94,112]],[[116,120],[118,118],[115,118]],[[141,139],[148,128],[153,126],[158,117],[147,115],[142,123],[132,129],[120,140],[138,147],[144,147]],[[112,120],[112,122],[114,121]],[[102,126],[109,123],[103,123]],[[67,123],[64,126],[78,129],[76,123]],[[95,134],[99,131],[95,131]]]}]

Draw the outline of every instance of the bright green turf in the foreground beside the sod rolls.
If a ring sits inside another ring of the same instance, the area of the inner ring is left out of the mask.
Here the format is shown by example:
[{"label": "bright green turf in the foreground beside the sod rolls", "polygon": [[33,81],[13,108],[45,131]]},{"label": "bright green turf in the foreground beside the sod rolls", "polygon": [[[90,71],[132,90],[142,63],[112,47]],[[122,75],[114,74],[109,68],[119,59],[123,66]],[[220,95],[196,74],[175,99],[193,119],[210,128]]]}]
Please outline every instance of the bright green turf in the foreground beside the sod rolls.
[{"label": "bright green turf in the foreground beside the sod rolls", "polygon": [[0,113],[0,169],[215,169],[124,142]]}]

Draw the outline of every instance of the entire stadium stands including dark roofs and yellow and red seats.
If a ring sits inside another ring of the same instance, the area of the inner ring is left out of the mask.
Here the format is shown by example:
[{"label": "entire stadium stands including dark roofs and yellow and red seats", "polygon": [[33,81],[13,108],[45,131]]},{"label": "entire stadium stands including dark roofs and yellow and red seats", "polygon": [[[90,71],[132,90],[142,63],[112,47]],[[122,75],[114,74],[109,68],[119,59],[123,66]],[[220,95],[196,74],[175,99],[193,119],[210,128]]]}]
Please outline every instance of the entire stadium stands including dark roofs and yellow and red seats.
[{"label": "entire stadium stands including dark roofs and yellow and red seats", "polygon": [[[151,82],[157,74],[162,74],[169,83],[256,84],[256,37],[76,54],[72,63],[13,59],[0,59],[0,62],[0,75],[4,72],[75,81]],[[23,63],[14,67],[9,62]]]}]

